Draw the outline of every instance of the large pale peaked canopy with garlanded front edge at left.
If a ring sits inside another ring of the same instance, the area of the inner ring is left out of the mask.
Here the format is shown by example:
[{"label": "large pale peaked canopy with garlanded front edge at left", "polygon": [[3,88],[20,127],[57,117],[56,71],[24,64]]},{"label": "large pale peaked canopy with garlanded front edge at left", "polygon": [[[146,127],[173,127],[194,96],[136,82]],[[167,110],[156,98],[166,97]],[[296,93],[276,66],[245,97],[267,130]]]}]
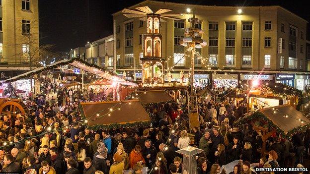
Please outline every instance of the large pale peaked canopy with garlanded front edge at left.
[{"label": "large pale peaked canopy with garlanded front edge at left", "polygon": [[23,74],[17,75],[15,77],[6,79],[3,82],[1,82],[1,84],[16,81],[16,80],[26,78],[26,77],[30,77],[31,75],[38,74],[42,71],[55,69],[59,66],[63,66],[63,65],[67,65],[67,64],[74,66],[76,68],[82,69],[84,71],[90,72],[92,74],[98,75],[99,77],[105,78],[107,80],[110,80],[110,81],[113,81],[116,83],[120,83],[123,85],[129,85],[129,86],[138,86],[136,83],[126,81],[125,79],[123,79],[117,75],[111,74],[108,70],[106,70],[102,67],[99,67],[95,64],[88,63],[88,62],[86,62],[80,58],[72,58],[69,60],[60,60],[60,61],[57,61],[55,63],[49,64],[47,66],[38,67],[38,68],[35,68],[31,71],[28,71],[28,72],[25,72]]}]

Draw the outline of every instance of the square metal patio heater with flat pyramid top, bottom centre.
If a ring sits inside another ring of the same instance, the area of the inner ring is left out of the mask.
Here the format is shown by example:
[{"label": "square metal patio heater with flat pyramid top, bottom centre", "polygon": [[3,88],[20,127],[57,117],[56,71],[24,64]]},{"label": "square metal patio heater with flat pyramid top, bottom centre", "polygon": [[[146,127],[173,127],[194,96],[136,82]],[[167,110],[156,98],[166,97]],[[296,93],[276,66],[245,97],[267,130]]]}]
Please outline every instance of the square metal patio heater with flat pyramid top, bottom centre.
[{"label": "square metal patio heater with flat pyramid top, bottom centre", "polygon": [[192,146],[176,151],[179,154],[183,154],[182,174],[197,174],[196,154],[202,151]]}]

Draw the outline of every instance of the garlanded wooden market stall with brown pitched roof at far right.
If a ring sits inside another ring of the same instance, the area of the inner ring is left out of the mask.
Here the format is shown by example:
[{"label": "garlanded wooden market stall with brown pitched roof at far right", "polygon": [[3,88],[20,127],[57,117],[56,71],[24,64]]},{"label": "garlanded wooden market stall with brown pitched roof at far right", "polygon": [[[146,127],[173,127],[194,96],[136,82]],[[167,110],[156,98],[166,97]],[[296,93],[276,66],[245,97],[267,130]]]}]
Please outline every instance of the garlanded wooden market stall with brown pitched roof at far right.
[{"label": "garlanded wooden market stall with brown pitched roof at far right", "polygon": [[297,131],[305,131],[310,126],[310,120],[289,104],[263,108],[238,120],[235,125],[240,128],[245,124],[253,129],[262,139],[262,156],[266,151],[266,140],[271,136],[280,135],[291,138]]}]

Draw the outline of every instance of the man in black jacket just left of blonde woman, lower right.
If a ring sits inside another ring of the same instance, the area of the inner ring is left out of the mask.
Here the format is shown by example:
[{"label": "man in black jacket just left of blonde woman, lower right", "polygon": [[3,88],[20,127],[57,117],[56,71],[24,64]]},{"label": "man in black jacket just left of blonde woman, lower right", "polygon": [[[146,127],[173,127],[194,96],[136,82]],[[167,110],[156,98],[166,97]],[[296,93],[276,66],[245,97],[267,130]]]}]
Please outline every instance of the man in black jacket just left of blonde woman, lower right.
[{"label": "man in black jacket just left of blonde woman, lower right", "polygon": [[241,153],[241,145],[238,137],[233,137],[233,142],[227,146],[227,162],[230,163],[234,160],[238,160]]}]

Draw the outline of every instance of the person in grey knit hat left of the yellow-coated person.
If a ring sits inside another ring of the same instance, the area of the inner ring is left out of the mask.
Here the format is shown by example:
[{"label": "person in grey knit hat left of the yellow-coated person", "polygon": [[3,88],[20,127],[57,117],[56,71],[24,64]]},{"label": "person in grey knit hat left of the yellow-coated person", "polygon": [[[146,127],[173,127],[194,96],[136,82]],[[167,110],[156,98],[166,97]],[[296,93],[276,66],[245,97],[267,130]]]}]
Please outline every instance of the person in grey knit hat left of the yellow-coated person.
[{"label": "person in grey knit hat left of the yellow-coated person", "polygon": [[103,142],[97,143],[97,152],[93,156],[93,165],[98,171],[102,171],[104,174],[108,173],[107,166],[107,152],[108,149],[105,147]]}]

